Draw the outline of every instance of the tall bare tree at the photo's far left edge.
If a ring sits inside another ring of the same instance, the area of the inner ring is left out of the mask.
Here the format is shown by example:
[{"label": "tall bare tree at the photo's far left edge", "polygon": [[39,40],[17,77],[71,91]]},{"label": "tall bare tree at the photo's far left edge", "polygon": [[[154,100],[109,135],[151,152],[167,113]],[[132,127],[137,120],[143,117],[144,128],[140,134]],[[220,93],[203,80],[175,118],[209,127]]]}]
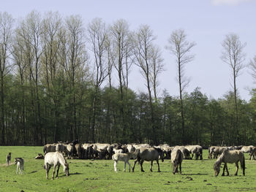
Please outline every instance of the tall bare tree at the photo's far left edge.
[{"label": "tall bare tree at the photo's far left edge", "polygon": [[5,144],[4,123],[4,78],[10,72],[10,48],[12,44],[12,25],[14,20],[7,12],[0,12],[0,97],[1,97],[1,144]]}]

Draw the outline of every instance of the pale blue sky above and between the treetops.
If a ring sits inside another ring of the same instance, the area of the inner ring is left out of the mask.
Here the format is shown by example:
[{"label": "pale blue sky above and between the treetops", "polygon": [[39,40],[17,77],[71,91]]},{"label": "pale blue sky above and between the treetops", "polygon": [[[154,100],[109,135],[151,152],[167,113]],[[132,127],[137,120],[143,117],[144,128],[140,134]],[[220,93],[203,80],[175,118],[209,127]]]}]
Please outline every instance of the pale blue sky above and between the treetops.
[{"label": "pale blue sky above and between the treetops", "polygon": [[[8,12],[15,19],[25,18],[32,10],[42,15],[58,11],[64,17],[81,15],[85,27],[93,18],[102,18],[107,24],[124,19],[131,30],[144,24],[150,26],[165,60],[165,71],[159,76],[159,95],[166,89],[171,96],[178,96],[175,58],[165,46],[172,31],[184,29],[187,40],[196,43],[192,48],[195,59],[185,66],[185,76],[190,79],[185,91],[190,93],[199,87],[214,99],[222,98],[233,85],[230,66],[220,58],[225,36],[238,34],[241,42],[246,43],[244,65],[256,55],[255,9],[256,0],[1,0],[0,6],[0,12]],[[129,87],[146,91],[138,73],[138,68],[133,67]],[[237,85],[241,99],[249,101],[249,92],[256,85],[248,67],[242,69]]]}]

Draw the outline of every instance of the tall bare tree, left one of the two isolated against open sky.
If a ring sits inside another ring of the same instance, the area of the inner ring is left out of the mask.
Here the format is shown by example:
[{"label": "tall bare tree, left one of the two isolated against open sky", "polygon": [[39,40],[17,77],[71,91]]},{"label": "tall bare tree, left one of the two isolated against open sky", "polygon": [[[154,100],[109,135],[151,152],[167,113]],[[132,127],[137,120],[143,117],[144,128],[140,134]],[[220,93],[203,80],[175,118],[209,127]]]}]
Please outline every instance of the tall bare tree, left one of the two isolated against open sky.
[{"label": "tall bare tree, left one of the two isolated against open sky", "polygon": [[168,40],[167,49],[175,56],[178,67],[178,85],[179,85],[179,99],[181,105],[181,128],[182,139],[185,142],[185,122],[184,122],[184,107],[182,93],[184,88],[189,84],[189,80],[185,77],[184,67],[195,58],[195,55],[189,54],[195,42],[187,41],[187,34],[182,29],[173,31]]}]

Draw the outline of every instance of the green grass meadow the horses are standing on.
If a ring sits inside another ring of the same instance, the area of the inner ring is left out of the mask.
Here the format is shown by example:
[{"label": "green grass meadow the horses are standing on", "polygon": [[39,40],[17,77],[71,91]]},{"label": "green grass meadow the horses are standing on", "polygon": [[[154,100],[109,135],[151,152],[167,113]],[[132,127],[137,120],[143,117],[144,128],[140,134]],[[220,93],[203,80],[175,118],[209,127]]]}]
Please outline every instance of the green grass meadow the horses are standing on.
[{"label": "green grass meadow the horses are standing on", "polygon": [[[12,152],[12,163],[15,157],[24,158],[25,174],[16,174],[16,166],[5,166],[7,153]],[[124,163],[118,162],[118,172],[113,170],[111,160],[67,160],[69,177],[64,176],[63,167],[59,179],[46,180],[44,160],[35,160],[42,147],[0,147],[0,191],[256,191],[256,161],[246,160],[246,176],[242,176],[239,165],[238,176],[234,176],[235,164],[228,164],[229,177],[214,177],[214,160],[208,160],[208,151],[203,151],[203,161],[184,160],[182,174],[173,175],[170,160],[160,162],[150,172],[150,164],[145,162],[140,172],[136,164],[135,172],[123,172]],[[246,159],[248,159],[246,154]],[[134,160],[131,160],[131,166]],[[50,169],[51,177],[53,169]],[[220,174],[222,174],[222,169]]]}]

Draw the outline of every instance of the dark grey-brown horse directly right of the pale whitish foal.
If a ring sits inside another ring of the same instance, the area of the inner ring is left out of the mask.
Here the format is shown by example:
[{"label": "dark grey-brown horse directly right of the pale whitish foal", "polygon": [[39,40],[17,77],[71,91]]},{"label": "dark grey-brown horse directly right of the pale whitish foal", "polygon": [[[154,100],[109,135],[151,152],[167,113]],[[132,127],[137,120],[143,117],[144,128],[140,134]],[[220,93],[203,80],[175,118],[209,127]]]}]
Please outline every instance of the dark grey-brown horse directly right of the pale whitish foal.
[{"label": "dark grey-brown horse directly right of the pale whitish foal", "polygon": [[[153,147],[153,148],[140,147],[135,150],[135,156],[136,156],[135,164],[137,163],[137,161],[140,163],[141,172],[144,172],[143,170],[144,161],[151,161],[150,171],[152,172],[152,166],[153,166],[154,160],[157,161],[158,172],[160,172],[159,162],[158,162],[159,156],[162,159],[162,162],[164,162],[164,153],[162,152],[161,149],[156,147]],[[135,164],[132,166],[132,172],[134,172]]]}]

